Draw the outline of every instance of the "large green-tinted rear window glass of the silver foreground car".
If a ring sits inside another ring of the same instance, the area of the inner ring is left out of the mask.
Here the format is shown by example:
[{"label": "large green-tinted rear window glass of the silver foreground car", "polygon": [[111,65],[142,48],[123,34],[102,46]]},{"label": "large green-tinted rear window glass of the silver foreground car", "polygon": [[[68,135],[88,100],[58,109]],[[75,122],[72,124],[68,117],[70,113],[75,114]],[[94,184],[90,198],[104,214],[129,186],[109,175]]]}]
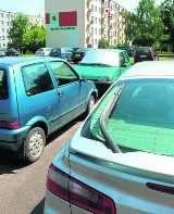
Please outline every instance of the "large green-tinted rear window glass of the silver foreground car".
[{"label": "large green-tinted rear window glass of the silver foreground car", "polygon": [[174,84],[127,84],[107,121],[108,133],[121,147],[174,155],[173,98]]}]

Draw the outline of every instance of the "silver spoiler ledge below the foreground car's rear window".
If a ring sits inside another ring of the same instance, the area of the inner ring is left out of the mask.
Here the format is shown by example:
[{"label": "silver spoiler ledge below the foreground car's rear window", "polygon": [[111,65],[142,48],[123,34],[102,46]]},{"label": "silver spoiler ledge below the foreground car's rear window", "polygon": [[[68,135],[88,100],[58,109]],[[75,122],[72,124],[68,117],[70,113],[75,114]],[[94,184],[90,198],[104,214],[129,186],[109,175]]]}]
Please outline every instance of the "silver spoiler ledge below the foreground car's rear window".
[{"label": "silver spoiler ledge below the foreground car's rear window", "polygon": [[174,158],[148,152],[127,152],[113,153],[102,142],[88,140],[80,136],[80,129],[74,135],[70,142],[69,151],[79,153],[91,159],[97,159],[108,163],[108,167],[113,167],[114,164],[130,168],[132,171],[140,171],[151,177],[170,181],[174,184]]}]

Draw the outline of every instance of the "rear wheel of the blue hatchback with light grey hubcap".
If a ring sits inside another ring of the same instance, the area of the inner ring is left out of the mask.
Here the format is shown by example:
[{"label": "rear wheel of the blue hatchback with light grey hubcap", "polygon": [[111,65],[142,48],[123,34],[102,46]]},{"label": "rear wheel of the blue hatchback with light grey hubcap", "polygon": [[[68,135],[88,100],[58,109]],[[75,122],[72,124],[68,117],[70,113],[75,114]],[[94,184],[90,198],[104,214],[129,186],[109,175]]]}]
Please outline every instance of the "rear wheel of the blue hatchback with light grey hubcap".
[{"label": "rear wheel of the blue hatchback with light grey hubcap", "polygon": [[32,128],[24,140],[24,156],[29,163],[37,161],[45,149],[46,135],[42,128]]}]

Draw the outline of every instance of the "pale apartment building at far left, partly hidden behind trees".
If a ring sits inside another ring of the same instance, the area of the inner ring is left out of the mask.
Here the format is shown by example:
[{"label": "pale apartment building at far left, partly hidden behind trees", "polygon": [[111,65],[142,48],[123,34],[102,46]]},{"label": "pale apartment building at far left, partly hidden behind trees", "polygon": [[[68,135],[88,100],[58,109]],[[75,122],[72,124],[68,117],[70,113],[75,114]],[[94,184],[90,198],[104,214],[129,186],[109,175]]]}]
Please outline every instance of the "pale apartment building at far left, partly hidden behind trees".
[{"label": "pale apartment building at far left, partly hidden behind trees", "polygon": [[[15,18],[17,13],[3,11],[0,9],[0,48],[7,49],[8,41],[9,41],[9,30],[11,26],[11,21]],[[30,16],[26,15],[29,20],[30,26],[44,26],[45,27],[45,17],[38,16]]]}]

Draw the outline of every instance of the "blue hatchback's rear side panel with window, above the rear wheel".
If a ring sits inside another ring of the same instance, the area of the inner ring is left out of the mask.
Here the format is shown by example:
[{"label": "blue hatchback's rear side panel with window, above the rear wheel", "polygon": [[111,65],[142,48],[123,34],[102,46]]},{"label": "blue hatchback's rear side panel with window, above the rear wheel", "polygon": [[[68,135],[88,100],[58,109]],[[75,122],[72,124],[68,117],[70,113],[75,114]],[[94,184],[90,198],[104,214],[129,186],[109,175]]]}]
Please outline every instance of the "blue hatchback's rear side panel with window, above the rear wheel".
[{"label": "blue hatchback's rear side panel with window, above the rear wheel", "polygon": [[45,121],[52,133],[59,127],[60,103],[47,64],[38,61],[23,66],[21,72],[22,77],[16,75],[16,90],[22,125]]}]

